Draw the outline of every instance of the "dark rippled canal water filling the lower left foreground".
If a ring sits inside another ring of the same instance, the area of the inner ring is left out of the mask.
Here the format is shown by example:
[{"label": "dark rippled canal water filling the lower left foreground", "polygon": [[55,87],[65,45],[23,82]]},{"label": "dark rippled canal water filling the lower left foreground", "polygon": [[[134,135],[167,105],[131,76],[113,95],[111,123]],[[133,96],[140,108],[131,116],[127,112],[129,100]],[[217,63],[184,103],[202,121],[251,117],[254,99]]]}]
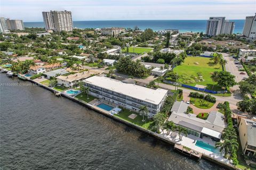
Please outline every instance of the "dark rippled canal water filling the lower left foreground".
[{"label": "dark rippled canal water filling the lower left foreground", "polygon": [[224,169],[0,74],[0,169]]}]

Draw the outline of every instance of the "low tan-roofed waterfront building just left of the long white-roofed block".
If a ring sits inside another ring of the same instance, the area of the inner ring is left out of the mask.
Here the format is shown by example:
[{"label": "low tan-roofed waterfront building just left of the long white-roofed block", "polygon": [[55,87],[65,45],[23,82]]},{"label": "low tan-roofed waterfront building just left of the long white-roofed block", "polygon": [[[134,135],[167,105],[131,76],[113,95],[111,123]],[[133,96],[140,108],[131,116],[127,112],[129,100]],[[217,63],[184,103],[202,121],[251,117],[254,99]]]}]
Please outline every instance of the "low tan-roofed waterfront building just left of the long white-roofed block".
[{"label": "low tan-roofed waterfront building just left of the long white-roofed block", "polygon": [[81,82],[85,80],[86,78],[91,77],[92,75],[100,74],[103,71],[101,70],[89,70],[89,71],[84,71],[82,73],[75,73],[75,74],[70,74],[67,76],[60,75],[57,78],[58,84],[61,86],[65,87],[71,87],[75,86],[78,82]]}]

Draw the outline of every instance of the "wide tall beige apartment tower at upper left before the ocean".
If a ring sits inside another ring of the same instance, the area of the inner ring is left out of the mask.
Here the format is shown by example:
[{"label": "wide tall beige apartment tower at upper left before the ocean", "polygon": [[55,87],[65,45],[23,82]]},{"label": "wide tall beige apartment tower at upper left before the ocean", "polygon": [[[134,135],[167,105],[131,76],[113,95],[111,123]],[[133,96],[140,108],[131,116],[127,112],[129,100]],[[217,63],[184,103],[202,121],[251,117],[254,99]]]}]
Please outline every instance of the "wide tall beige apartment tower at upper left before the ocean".
[{"label": "wide tall beige apartment tower at upper left before the ocean", "polygon": [[45,29],[55,31],[72,31],[73,21],[70,11],[42,12]]}]

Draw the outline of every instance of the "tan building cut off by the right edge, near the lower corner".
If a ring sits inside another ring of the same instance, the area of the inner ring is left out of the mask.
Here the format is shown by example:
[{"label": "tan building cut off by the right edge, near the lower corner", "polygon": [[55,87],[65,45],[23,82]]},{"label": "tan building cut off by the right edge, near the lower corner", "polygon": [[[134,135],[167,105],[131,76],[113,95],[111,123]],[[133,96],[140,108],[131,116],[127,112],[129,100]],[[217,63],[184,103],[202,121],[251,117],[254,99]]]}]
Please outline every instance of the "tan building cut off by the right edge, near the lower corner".
[{"label": "tan building cut off by the right edge, near the lower corner", "polygon": [[239,123],[239,138],[243,154],[249,156],[256,154],[256,122],[241,118]]}]

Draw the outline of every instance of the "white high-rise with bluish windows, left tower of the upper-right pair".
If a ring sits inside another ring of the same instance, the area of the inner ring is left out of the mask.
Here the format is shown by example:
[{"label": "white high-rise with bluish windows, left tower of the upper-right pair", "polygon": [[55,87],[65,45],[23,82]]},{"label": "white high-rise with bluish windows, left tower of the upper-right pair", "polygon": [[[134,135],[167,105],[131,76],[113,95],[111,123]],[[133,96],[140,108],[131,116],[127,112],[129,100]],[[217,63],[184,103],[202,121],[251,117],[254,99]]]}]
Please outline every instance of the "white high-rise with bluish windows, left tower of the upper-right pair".
[{"label": "white high-rise with bluish windows, left tower of the upper-right pair", "polygon": [[222,32],[225,17],[210,17],[206,25],[206,35],[216,36]]}]

